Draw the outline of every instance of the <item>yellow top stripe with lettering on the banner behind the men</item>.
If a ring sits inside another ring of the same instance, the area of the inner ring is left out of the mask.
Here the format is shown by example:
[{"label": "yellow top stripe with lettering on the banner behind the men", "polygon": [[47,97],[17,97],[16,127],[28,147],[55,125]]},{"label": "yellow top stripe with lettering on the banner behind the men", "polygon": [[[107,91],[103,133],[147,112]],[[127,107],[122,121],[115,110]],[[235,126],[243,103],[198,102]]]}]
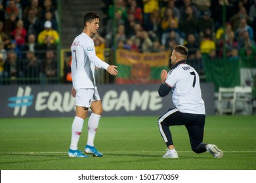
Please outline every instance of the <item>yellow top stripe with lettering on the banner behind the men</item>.
[{"label": "yellow top stripe with lettering on the banner behind the men", "polygon": [[116,61],[122,65],[144,63],[150,67],[165,67],[169,65],[169,51],[159,53],[138,53],[128,50],[117,50]]}]

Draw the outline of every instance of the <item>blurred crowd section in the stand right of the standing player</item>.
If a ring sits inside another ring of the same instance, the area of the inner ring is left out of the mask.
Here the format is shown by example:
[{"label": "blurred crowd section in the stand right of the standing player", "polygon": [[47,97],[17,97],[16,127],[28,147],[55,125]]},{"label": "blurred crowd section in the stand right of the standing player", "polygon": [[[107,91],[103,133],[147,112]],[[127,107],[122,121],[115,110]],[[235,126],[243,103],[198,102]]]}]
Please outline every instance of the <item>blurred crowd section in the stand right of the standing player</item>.
[{"label": "blurred crowd section in the stand right of the standing player", "polygon": [[172,50],[182,44],[188,47],[188,62],[202,75],[202,55],[222,57],[223,46],[228,59],[251,57],[256,65],[256,0],[104,2],[108,15],[106,34],[102,34],[105,48],[145,53]]}]

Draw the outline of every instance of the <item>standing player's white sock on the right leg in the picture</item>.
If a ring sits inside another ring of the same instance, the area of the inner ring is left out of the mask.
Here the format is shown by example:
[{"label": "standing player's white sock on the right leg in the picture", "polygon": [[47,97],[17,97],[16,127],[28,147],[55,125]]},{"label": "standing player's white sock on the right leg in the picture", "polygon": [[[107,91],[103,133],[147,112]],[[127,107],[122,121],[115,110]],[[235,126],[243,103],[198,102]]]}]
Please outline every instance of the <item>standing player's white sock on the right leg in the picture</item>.
[{"label": "standing player's white sock on the right leg in the picture", "polygon": [[100,120],[100,115],[98,114],[91,114],[89,121],[88,121],[88,139],[87,139],[87,145],[89,146],[95,146],[94,140],[95,140],[95,134],[98,128],[98,121]]}]

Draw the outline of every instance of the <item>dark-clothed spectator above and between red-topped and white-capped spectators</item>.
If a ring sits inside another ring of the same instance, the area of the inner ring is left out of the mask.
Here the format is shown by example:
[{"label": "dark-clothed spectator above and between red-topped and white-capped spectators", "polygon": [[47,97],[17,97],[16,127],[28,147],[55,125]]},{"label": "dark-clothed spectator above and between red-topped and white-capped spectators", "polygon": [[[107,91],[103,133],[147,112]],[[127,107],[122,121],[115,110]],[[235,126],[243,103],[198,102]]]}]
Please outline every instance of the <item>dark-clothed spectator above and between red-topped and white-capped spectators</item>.
[{"label": "dark-clothed spectator above and between red-topped and white-capped spectators", "polygon": [[27,18],[24,18],[24,28],[28,31],[28,34],[34,34],[36,37],[41,31],[40,20],[35,16],[35,10],[32,8],[28,10]]}]

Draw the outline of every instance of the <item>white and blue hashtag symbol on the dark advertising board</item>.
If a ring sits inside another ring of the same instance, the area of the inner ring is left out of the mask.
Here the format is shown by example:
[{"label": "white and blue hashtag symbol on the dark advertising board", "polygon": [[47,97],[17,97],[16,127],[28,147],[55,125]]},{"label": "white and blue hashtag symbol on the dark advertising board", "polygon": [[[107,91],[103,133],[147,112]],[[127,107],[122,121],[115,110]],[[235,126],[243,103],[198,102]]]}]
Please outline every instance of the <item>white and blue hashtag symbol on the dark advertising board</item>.
[{"label": "white and blue hashtag symbol on the dark advertising board", "polygon": [[[10,97],[8,100],[14,103],[9,103],[8,107],[14,108],[14,116],[20,112],[24,116],[27,112],[27,107],[32,105],[33,95],[30,95],[31,88],[27,86],[25,90],[22,87],[18,88],[16,97]],[[21,109],[21,110],[20,110]]]}]

